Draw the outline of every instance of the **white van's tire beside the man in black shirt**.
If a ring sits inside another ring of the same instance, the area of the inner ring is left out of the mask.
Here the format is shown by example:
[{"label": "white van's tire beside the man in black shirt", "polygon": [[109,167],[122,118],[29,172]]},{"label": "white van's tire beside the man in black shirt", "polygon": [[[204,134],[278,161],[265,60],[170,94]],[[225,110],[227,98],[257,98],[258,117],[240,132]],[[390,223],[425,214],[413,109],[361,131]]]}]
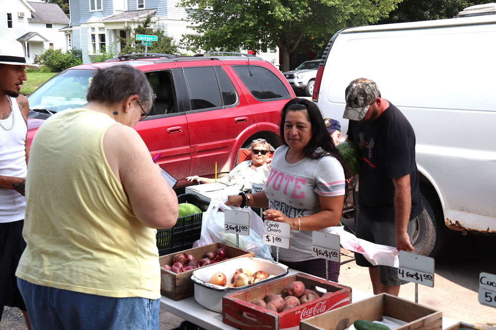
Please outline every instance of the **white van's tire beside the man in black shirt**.
[{"label": "white van's tire beside the man in black shirt", "polygon": [[424,210],[417,217],[412,243],[416,254],[434,257],[446,243],[448,228],[434,189],[421,186],[420,194]]}]

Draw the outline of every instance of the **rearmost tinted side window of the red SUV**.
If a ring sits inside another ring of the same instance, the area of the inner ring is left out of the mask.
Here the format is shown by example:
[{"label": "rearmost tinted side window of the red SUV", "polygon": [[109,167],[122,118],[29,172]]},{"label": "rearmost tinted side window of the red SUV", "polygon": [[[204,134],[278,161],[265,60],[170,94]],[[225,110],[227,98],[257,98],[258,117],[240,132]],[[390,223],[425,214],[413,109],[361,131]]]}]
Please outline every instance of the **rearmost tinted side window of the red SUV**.
[{"label": "rearmost tinted side window of the red SUV", "polygon": [[248,88],[253,97],[258,100],[287,98],[289,92],[284,84],[270,70],[250,65],[252,75],[249,75],[248,65],[233,65],[233,69]]}]

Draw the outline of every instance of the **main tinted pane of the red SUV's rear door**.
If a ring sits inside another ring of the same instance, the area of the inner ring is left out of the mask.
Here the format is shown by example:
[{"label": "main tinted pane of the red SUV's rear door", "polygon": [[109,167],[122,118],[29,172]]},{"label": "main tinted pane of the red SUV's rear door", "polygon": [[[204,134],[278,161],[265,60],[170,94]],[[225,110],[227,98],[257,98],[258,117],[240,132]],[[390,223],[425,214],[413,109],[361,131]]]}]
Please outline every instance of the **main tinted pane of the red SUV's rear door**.
[{"label": "main tinted pane of the red SUV's rear door", "polygon": [[191,110],[222,106],[219,85],[211,66],[184,68]]}]

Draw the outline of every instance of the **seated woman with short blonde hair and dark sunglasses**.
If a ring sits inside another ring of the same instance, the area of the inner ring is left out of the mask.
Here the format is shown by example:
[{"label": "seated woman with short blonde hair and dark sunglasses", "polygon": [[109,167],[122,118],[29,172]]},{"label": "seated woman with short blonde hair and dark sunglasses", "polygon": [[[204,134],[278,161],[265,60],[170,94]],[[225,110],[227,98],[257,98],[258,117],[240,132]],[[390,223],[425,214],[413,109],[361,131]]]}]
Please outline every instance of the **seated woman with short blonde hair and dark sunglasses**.
[{"label": "seated woman with short blonde hair and dark sunglasses", "polygon": [[[241,162],[228,175],[217,179],[227,185],[244,186],[251,188],[251,184],[265,184],[269,175],[270,144],[264,139],[256,139],[251,142],[251,160]],[[215,182],[215,179],[198,177],[197,175],[187,177],[187,181],[198,181],[204,184]]]}]

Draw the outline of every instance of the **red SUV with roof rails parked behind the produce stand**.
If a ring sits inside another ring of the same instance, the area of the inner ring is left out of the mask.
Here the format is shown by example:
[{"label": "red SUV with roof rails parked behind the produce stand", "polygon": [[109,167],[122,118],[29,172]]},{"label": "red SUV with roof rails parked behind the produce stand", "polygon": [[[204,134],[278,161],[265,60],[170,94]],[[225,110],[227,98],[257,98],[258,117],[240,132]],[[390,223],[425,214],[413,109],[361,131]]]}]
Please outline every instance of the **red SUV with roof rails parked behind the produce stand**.
[{"label": "red SUV with roof rails parked behind the produce stand", "polygon": [[62,71],[28,96],[28,142],[51,114],[83,107],[93,70],[132,65],[156,95],[150,115],[134,129],[151,156],[178,180],[213,177],[235,166],[241,147],[263,138],[277,147],[283,105],[293,89],[271,63],[255,56],[131,54]]}]

